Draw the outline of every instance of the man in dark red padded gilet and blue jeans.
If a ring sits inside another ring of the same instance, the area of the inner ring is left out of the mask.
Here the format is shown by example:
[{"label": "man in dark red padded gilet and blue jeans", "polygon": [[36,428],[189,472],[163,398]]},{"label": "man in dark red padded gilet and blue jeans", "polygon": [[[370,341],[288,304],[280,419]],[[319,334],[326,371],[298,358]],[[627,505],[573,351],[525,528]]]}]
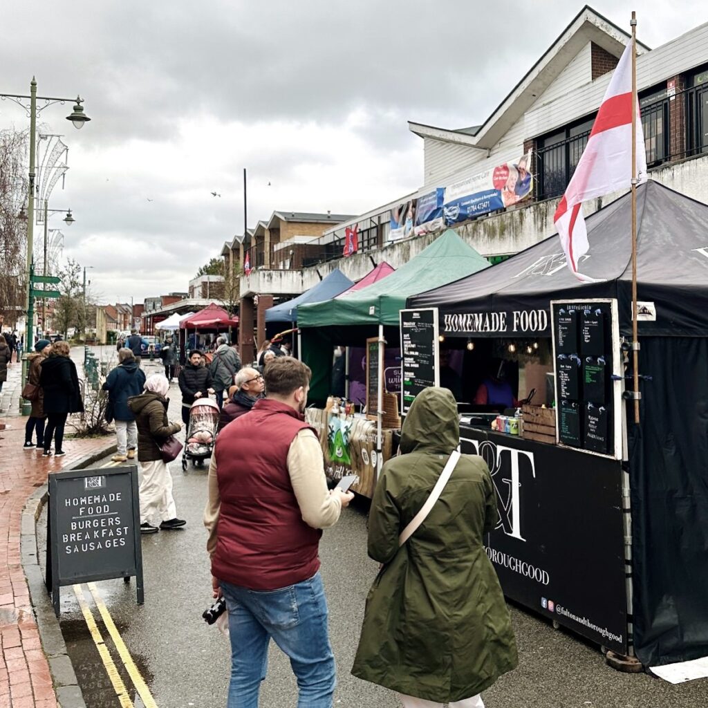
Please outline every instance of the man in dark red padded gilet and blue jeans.
[{"label": "man in dark red padded gilet and blue jeans", "polygon": [[229,612],[228,708],[258,707],[271,637],[290,657],[298,706],[332,706],[318,547],[354,495],[327,489],[319,439],[304,421],[311,375],[296,359],[269,364],[268,398],[224,428],[212,455],[204,524],[214,596]]}]

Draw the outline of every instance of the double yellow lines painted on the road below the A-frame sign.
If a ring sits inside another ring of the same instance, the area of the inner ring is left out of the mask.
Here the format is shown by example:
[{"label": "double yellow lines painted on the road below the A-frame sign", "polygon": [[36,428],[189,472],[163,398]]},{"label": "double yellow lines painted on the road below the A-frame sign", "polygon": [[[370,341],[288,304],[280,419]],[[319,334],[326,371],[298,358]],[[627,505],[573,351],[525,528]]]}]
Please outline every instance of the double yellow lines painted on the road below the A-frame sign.
[{"label": "double yellow lines painted on the road below the A-frame sign", "polygon": [[[125,670],[130,676],[130,680],[135,686],[135,690],[139,697],[141,698],[145,708],[157,708],[157,704],[152,697],[152,693],[147,687],[142,674],[140,673],[137,666],[135,666],[135,661],[133,661],[132,656],[130,656],[130,651],[128,651],[127,646],[125,646],[125,641],[123,641],[120,632],[115,627],[113,622],[113,617],[110,616],[108,612],[108,607],[105,606],[103,598],[98,594],[98,588],[96,588],[96,583],[87,583],[89,587],[89,592],[93,597],[93,601],[98,607],[98,612],[103,619],[103,624],[105,628],[108,629],[108,634],[110,638],[113,639],[113,644],[115,649],[118,651],[118,656],[122,661]],[[113,690],[115,690],[115,695],[118,696],[118,701],[120,702],[121,708],[134,708],[132,700],[130,700],[130,695],[123,683],[122,678],[120,678],[120,673],[118,673],[118,668],[115,666],[113,657],[110,656],[110,651],[108,651],[108,646],[105,646],[105,641],[103,641],[103,635],[101,630],[98,629],[96,620],[93,618],[93,613],[89,607],[89,603],[86,602],[86,595],[84,594],[84,589],[81,585],[74,586],[74,594],[76,595],[76,600],[79,601],[79,607],[81,607],[81,612],[86,620],[86,626],[89,627],[89,632],[91,633],[91,639],[93,639],[93,644],[96,644],[96,649],[98,649],[98,654],[101,656],[101,661],[103,661],[103,666],[108,674],[110,683],[113,685]]]}]

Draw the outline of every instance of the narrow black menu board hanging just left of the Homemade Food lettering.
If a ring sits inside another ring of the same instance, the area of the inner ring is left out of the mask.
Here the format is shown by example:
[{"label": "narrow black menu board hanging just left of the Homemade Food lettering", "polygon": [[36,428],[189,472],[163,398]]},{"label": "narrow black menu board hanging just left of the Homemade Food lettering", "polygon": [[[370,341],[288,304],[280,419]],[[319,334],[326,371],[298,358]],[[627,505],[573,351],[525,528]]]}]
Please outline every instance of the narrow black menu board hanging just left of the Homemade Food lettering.
[{"label": "narrow black menu board hanging just left of the Homemade Food lettering", "polygon": [[401,413],[439,382],[438,309],[401,310]]}]

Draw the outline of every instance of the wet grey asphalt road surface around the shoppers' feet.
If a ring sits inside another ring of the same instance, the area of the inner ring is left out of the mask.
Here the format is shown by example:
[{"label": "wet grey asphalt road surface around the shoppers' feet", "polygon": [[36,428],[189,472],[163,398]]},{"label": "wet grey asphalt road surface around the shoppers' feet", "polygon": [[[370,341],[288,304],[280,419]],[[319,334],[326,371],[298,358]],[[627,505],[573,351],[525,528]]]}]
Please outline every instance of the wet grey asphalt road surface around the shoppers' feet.
[{"label": "wet grey asphalt road surface around the shoppers' feet", "polygon": [[[156,367],[155,367],[156,370]],[[174,387],[176,389],[176,387]],[[172,393],[173,399],[178,395]],[[170,410],[178,419],[178,408]],[[108,462],[106,460],[105,462]],[[98,463],[100,466],[103,463]],[[147,681],[159,708],[221,708],[226,705],[229,644],[201,619],[211,603],[202,509],[207,469],[171,464],[182,530],[143,537],[145,604],[135,602],[135,581],[103,581],[98,588],[115,624]],[[396,708],[395,695],[353,678],[349,669],[358,642],[366,593],[377,564],[366,555],[365,502],[346,510],[320,544],[322,576],[330,608],[330,634],[338,664],[335,708]],[[40,520],[40,541],[45,537]],[[41,557],[41,556],[40,556]],[[93,603],[90,603],[93,607]],[[98,618],[95,607],[93,614]],[[670,685],[649,675],[627,675],[607,667],[597,647],[525,610],[512,607],[520,664],[484,694],[488,708],[704,708],[708,680]],[[89,708],[119,703],[86,628],[71,588],[62,588],[61,626]],[[103,624],[98,626],[120,665]],[[131,697],[125,670],[120,673]],[[297,686],[290,665],[271,644],[261,708],[295,707]],[[142,706],[139,698],[136,706]]]}]

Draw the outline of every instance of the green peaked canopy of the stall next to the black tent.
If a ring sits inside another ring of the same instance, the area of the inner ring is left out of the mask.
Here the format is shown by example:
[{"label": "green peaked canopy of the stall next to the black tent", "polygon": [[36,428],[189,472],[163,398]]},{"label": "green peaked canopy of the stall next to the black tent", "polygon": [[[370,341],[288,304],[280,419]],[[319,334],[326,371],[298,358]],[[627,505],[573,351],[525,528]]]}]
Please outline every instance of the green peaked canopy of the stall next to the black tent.
[{"label": "green peaked canopy of the stall next to the black tent", "polygon": [[392,328],[387,332],[389,343],[398,341],[399,310],[406,307],[407,297],[447,285],[488,267],[486,258],[462,241],[452,229],[447,229],[387,278],[326,302],[298,307],[302,360],[312,369],[310,398],[322,403],[330,393],[334,346],[362,346],[367,337],[377,334],[383,339],[384,326]]}]

